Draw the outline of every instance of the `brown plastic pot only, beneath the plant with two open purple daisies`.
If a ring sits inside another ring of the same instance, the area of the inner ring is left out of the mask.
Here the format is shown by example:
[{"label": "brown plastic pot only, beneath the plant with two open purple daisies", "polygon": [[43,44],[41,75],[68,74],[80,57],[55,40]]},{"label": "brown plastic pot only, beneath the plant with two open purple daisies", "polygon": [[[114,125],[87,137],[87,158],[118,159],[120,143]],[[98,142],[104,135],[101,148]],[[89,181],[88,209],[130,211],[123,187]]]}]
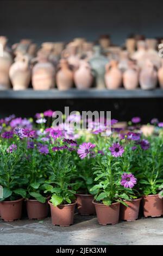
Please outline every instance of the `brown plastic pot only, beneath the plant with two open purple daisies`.
[{"label": "brown plastic pot only, beneath the plant with two open purple daisies", "polygon": [[94,200],[92,203],[95,205],[99,224],[107,225],[118,223],[120,215],[120,203],[117,202],[111,205],[104,205],[95,203]]}]

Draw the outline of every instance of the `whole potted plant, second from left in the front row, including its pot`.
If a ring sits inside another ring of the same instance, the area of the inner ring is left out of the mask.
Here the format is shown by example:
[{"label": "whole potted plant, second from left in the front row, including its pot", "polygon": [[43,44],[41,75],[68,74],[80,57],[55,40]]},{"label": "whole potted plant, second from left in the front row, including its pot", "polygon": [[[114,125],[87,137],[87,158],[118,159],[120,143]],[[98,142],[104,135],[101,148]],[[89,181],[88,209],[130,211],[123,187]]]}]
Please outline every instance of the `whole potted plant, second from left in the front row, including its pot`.
[{"label": "whole potted plant, second from left in the front row, including its pot", "polygon": [[48,144],[44,135],[28,138],[26,176],[28,179],[26,208],[29,219],[42,220],[48,215],[50,198],[46,184],[48,166]]}]

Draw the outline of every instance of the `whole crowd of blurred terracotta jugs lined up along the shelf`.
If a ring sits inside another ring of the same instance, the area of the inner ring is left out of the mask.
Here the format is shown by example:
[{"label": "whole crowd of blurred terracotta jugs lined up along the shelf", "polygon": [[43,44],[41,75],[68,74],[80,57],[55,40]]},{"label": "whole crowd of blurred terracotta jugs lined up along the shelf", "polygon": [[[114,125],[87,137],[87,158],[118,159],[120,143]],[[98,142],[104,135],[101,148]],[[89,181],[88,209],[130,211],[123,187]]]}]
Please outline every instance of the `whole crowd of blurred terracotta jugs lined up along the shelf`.
[{"label": "whole crowd of blurred terracotta jugs lined up along the shelf", "polygon": [[8,39],[0,36],[0,89],[163,88],[158,44],[156,39],[136,35],[115,46],[109,35],[103,35],[96,44],[76,38],[67,44],[38,46],[22,39],[9,47]]}]

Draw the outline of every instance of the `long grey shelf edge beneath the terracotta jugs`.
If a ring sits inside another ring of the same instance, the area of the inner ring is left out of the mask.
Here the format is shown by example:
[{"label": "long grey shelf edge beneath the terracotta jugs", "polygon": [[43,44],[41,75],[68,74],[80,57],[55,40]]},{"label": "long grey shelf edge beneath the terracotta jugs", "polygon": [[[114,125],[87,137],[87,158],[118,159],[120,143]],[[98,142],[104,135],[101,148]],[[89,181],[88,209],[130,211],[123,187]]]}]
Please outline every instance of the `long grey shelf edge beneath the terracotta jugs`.
[{"label": "long grey shelf edge beneath the terracotta jugs", "polygon": [[1,90],[0,99],[132,99],[132,98],[162,98],[163,90],[77,90],[71,89],[66,91],[52,90],[33,90],[27,89],[22,91]]}]

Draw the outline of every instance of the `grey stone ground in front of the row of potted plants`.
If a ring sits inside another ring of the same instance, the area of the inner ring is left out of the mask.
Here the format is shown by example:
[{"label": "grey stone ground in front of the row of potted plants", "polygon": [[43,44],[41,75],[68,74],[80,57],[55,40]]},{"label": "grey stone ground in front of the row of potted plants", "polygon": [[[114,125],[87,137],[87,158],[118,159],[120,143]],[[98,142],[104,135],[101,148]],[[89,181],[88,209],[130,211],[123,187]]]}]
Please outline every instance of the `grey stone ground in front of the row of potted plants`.
[{"label": "grey stone ground in front of the row of potted plants", "polygon": [[163,245],[163,218],[141,218],[102,226],[96,216],[75,214],[74,225],[58,227],[43,221],[0,220],[0,245]]}]

